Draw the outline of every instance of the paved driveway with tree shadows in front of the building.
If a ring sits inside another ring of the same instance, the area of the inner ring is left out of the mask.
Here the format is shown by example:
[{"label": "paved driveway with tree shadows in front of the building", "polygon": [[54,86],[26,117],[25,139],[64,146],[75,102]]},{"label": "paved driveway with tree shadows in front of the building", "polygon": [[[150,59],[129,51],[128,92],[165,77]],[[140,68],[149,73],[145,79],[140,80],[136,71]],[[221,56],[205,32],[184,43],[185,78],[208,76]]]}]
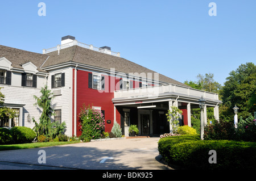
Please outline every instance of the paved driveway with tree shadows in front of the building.
[{"label": "paved driveway with tree shadows in front of the building", "polygon": [[[126,138],[0,151],[0,169],[170,169],[158,161],[158,140],[156,137]],[[39,163],[38,158],[42,156],[39,150],[45,151],[46,163]]]}]

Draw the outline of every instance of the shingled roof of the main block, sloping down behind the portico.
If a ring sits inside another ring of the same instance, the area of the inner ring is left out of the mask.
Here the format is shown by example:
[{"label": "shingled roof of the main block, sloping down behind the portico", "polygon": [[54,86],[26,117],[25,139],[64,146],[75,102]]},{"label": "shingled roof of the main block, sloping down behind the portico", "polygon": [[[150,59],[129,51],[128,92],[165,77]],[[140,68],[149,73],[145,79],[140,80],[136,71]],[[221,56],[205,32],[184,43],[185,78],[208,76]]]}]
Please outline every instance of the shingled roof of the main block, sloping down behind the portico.
[{"label": "shingled roof of the main block, sloping down behind the portico", "polygon": [[[152,73],[152,78],[154,79],[155,71],[145,68],[144,66],[135,64],[125,58],[115,57],[109,54],[96,52],[94,50],[79,47],[77,45],[60,49],[60,53],[57,51],[47,53],[49,58],[44,63],[42,68],[48,66],[57,65],[64,62],[77,62],[85,65],[96,66],[98,68],[112,69],[122,73]],[[166,83],[173,83],[176,85],[187,86],[184,83],[175,81],[172,78],[166,77],[165,75],[159,74],[159,81]],[[187,86],[189,87],[189,86]]]}]

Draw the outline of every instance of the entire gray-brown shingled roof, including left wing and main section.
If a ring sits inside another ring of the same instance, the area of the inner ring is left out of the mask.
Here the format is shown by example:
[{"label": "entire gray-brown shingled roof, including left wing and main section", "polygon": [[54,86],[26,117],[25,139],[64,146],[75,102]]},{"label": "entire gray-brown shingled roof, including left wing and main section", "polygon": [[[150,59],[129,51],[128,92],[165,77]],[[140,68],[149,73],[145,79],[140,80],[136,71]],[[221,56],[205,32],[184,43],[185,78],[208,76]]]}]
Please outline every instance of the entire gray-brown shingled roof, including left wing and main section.
[{"label": "entire gray-brown shingled roof, including left wing and main section", "polygon": [[[135,64],[134,62],[126,60],[125,58],[115,57],[109,54],[96,52],[94,50],[82,48],[77,45],[65,49],[60,49],[60,54],[58,54],[57,51],[47,54],[40,54],[0,45],[0,57],[6,57],[9,61],[12,62],[12,66],[14,68],[20,69],[23,69],[22,64],[31,61],[38,67],[38,71],[43,72],[46,72],[43,69],[48,66],[72,61],[108,70],[114,68],[115,71],[119,71],[126,74],[139,73],[140,75],[142,75],[141,73],[145,73],[147,76],[147,73],[152,73],[152,79],[154,79],[154,73],[156,73],[153,70]],[[175,85],[187,86],[184,83],[175,81],[174,79],[166,77],[162,74],[159,74],[159,81],[173,83]]]}]

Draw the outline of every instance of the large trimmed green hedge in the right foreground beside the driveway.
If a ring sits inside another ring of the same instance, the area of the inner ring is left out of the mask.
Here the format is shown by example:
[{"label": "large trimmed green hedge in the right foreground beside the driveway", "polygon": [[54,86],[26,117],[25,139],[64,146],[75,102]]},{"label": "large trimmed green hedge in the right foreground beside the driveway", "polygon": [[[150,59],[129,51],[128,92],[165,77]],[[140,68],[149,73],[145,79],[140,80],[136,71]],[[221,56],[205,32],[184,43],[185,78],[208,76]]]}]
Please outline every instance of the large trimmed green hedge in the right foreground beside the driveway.
[{"label": "large trimmed green hedge in the right foreground beside the driveway", "polygon": [[[200,136],[172,136],[161,138],[159,153],[169,164],[183,169],[255,170],[256,143],[228,140],[200,140]],[[209,163],[210,150],[215,150],[217,163]]]}]

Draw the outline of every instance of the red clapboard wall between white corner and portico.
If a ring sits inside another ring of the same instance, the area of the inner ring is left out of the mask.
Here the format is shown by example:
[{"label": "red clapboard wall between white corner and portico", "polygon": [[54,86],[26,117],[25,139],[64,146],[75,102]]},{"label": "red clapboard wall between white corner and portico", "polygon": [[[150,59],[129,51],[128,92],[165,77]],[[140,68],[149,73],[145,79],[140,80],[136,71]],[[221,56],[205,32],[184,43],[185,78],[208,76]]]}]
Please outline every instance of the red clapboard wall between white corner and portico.
[{"label": "red clapboard wall between white corner and portico", "polygon": [[[90,107],[92,106],[101,107],[101,110],[105,111],[105,132],[110,132],[114,123],[114,104],[112,102],[112,99],[114,98],[114,92],[113,92],[114,90],[110,90],[110,87],[112,87],[112,89],[118,88],[119,79],[115,79],[112,77],[112,80],[110,82],[110,76],[104,75],[105,90],[91,89],[88,87],[89,73],[91,72],[84,71],[84,70],[77,70],[77,99],[76,99],[77,115],[79,115],[81,108],[83,106],[90,105]],[[75,69],[73,69],[73,92],[75,91],[74,81],[75,81]],[[112,83],[111,86],[110,86],[110,83]],[[74,94],[73,94],[73,100],[74,100]],[[80,136],[81,125],[80,125],[79,117],[77,115],[76,115],[76,120],[77,120],[76,130],[77,130],[77,136]],[[107,124],[106,120],[111,120],[111,124]],[[120,114],[117,110],[116,110],[116,120],[117,120],[117,123],[121,125]]]}]

